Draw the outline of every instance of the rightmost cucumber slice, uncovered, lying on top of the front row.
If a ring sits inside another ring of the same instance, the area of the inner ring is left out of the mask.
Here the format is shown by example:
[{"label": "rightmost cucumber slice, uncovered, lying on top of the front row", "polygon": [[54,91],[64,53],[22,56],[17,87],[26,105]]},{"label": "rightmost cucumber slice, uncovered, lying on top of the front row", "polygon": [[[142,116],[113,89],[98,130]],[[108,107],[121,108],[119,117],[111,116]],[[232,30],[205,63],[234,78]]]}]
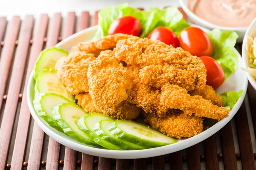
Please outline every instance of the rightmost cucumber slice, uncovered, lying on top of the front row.
[{"label": "rightmost cucumber slice, uncovered, lying on top of the front row", "polygon": [[108,127],[108,130],[118,139],[145,148],[160,147],[177,142],[176,139],[163,135],[149,126],[128,120],[116,120]]}]

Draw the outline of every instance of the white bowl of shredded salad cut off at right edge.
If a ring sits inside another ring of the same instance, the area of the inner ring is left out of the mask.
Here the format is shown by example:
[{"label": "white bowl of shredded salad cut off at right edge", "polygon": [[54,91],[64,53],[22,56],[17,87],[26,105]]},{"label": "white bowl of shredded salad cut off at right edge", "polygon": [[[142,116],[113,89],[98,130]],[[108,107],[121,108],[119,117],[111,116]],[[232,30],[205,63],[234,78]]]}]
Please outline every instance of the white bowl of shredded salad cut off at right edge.
[{"label": "white bowl of shredded salad cut off at right edge", "polygon": [[[245,35],[244,35],[244,40],[243,40],[243,46],[242,46],[242,58],[243,58],[243,67],[247,68],[249,67],[249,57],[247,54],[247,36],[253,37],[254,35],[256,35],[256,18],[253,20],[253,22],[250,24],[250,26],[248,27]],[[253,86],[253,88],[256,90],[256,80],[249,74],[247,74],[247,78],[250,82],[250,84]]]}]

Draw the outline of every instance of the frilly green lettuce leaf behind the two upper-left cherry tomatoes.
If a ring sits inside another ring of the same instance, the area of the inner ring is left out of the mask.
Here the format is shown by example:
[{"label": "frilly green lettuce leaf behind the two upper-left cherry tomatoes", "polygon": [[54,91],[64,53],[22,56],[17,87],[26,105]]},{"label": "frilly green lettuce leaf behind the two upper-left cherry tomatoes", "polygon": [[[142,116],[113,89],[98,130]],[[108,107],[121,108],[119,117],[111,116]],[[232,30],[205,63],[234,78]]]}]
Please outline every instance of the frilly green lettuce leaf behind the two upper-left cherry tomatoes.
[{"label": "frilly green lettuce leaf behind the two upper-left cherry tomatoes", "polygon": [[177,7],[172,6],[163,10],[159,8],[150,8],[148,11],[141,11],[137,8],[129,7],[127,3],[119,6],[111,6],[104,8],[98,13],[98,30],[93,37],[93,40],[108,35],[108,28],[111,23],[119,17],[132,15],[140,20],[143,32],[141,38],[148,37],[148,34],[158,26],[166,26],[178,36],[180,31],[189,27],[186,20]]}]

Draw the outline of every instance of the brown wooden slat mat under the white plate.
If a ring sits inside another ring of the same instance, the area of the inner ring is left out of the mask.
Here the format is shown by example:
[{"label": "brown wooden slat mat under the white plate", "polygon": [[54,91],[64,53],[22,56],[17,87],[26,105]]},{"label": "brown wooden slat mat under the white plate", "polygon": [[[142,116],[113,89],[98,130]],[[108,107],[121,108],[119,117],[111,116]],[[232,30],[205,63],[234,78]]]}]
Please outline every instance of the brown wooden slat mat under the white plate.
[{"label": "brown wooden slat mat under the white plate", "polygon": [[[179,10],[183,13],[181,8]],[[232,125],[228,123],[200,144],[166,156],[107,159],[61,147],[52,138],[48,142],[48,136],[31,119],[27,106],[29,75],[44,47],[51,47],[76,31],[96,25],[97,15],[92,18],[92,23],[90,20],[88,11],[70,12],[63,18],[60,13],[52,17],[42,14],[35,20],[28,15],[22,21],[15,16],[8,22],[5,17],[0,17],[0,170],[256,169],[256,150],[253,150],[256,145],[256,91],[250,84],[247,92],[250,114],[243,104]],[[37,23],[35,29],[34,21]],[[236,48],[241,52],[241,45]],[[253,130],[254,135],[250,133]]]}]

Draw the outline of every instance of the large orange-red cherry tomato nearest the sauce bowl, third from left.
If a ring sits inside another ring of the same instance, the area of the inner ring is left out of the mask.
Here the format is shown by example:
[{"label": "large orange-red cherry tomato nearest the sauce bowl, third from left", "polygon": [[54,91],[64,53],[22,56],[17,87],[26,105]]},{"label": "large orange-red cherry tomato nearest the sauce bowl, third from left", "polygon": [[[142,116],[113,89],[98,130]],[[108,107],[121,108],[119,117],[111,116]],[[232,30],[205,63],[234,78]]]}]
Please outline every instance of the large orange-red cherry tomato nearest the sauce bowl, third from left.
[{"label": "large orange-red cherry tomato nearest the sauce bowl, third from left", "polygon": [[212,56],[213,47],[208,35],[197,27],[188,27],[180,32],[180,46],[193,56]]}]

